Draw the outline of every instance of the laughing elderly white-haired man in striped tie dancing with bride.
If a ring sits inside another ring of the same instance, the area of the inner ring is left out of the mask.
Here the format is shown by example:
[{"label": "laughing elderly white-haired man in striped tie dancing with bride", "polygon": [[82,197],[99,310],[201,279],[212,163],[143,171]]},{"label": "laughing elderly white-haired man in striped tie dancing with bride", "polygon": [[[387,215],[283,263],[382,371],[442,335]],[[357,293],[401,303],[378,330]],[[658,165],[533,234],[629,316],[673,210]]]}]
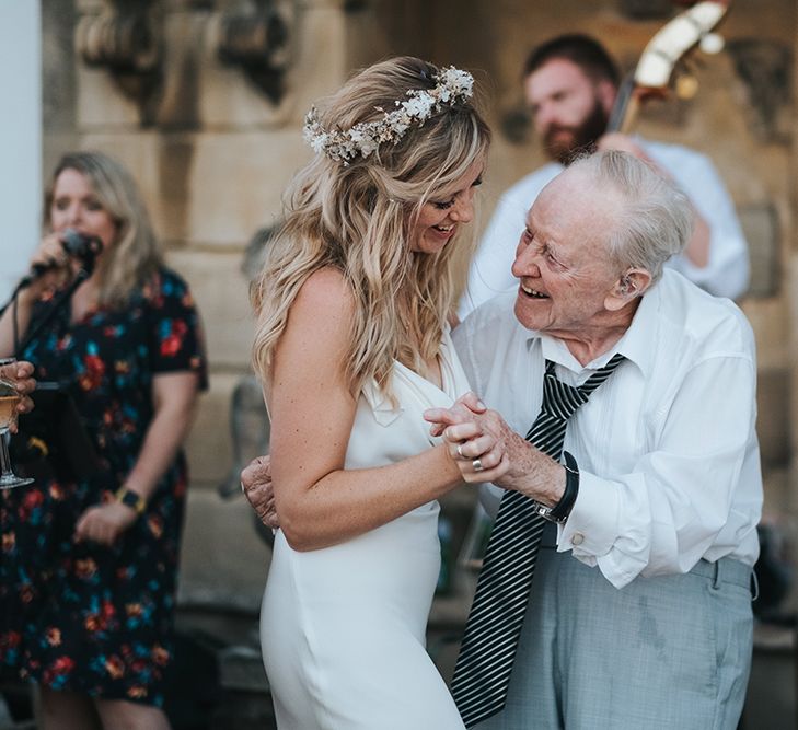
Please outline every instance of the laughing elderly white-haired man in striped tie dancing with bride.
[{"label": "laughing elderly white-haired man in striped tie dancing with bride", "polygon": [[737,725],[754,343],[735,304],[663,269],[690,233],[687,199],[647,164],[579,160],[527,216],[517,292],[454,333],[491,409],[470,395],[426,417],[466,482],[507,490],[453,681],[469,727]]}]

